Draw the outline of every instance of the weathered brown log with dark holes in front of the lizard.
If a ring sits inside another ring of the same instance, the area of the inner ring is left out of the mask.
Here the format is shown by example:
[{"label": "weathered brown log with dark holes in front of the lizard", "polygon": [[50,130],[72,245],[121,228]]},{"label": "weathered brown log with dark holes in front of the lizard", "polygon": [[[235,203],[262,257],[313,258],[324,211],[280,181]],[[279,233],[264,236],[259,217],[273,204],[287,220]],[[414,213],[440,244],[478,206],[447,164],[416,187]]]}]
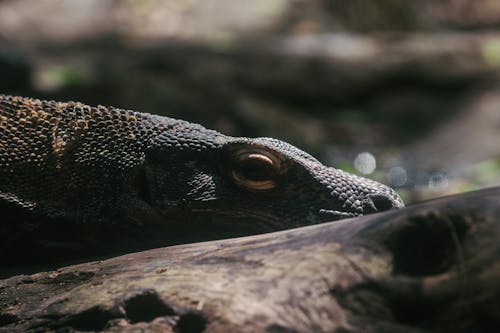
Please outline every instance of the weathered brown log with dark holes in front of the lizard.
[{"label": "weathered brown log with dark holes in front of the lizard", "polygon": [[500,188],[0,281],[0,331],[478,332],[500,324]]}]

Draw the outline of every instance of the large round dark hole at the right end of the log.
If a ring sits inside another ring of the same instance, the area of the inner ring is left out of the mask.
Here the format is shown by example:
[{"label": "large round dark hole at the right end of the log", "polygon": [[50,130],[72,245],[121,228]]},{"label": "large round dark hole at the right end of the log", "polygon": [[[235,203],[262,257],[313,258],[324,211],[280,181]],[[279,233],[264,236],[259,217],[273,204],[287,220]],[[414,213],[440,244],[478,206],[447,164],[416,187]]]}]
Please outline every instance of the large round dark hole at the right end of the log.
[{"label": "large round dark hole at the right end of the log", "polygon": [[389,238],[393,273],[426,276],[448,271],[460,260],[461,244],[468,229],[460,217],[413,218]]}]

